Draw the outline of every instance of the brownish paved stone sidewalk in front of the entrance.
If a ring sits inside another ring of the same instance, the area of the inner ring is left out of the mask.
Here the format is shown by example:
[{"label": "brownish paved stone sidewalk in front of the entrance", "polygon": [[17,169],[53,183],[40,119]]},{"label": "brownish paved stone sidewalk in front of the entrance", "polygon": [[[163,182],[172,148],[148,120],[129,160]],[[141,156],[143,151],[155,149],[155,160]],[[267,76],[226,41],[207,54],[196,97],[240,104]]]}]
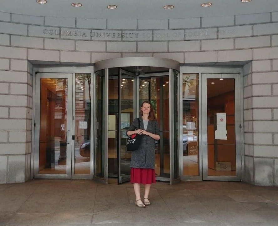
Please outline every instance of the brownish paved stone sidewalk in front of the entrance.
[{"label": "brownish paved stone sidewalk in front of the entrance", "polygon": [[[0,225],[278,225],[278,188],[242,182],[152,185],[151,205],[133,186],[37,179],[0,185]],[[143,194],[143,190],[142,190]]]}]

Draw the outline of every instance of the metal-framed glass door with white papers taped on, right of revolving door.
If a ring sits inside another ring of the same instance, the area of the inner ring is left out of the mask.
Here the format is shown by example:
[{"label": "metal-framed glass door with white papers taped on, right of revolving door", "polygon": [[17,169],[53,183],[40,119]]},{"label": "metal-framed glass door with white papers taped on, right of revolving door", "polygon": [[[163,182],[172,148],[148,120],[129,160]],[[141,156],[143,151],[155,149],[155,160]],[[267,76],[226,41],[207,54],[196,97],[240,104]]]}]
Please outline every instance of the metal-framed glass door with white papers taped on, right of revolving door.
[{"label": "metal-framed glass door with white papers taped on, right of revolving door", "polygon": [[203,180],[240,180],[239,74],[202,74]]}]

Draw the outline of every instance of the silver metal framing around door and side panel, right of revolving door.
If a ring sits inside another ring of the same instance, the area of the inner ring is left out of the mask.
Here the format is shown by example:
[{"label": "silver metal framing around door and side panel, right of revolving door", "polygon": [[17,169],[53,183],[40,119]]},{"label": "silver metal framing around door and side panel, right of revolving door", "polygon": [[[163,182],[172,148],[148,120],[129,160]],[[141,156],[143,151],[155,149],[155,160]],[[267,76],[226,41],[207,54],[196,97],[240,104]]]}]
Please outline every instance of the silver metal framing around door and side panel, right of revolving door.
[{"label": "silver metal framing around door and side panel, right of revolving door", "polygon": [[[181,176],[181,180],[182,181],[202,181],[203,180],[203,165],[201,164],[203,161],[203,136],[202,136],[202,125],[203,125],[203,120],[202,120],[202,83],[204,82],[202,79],[202,74],[203,73],[237,73],[239,76],[239,97],[240,97],[240,122],[242,125],[242,129],[240,131],[240,144],[239,147],[241,149],[241,172],[237,172],[237,174],[239,175],[239,177],[241,179],[243,179],[245,177],[245,172],[244,172],[244,142],[243,142],[243,136],[244,136],[244,123],[243,123],[243,65],[244,62],[242,63],[242,65],[228,65],[228,66],[223,66],[223,65],[213,65],[213,66],[209,66],[209,65],[199,65],[199,66],[195,66],[195,65],[183,65],[180,67],[180,78],[179,78],[179,97],[178,97],[178,102],[180,103],[179,106],[179,118],[178,118],[178,125],[179,125],[179,150],[180,150],[180,176]],[[182,99],[182,91],[183,91],[183,74],[184,73],[192,73],[192,74],[198,74],[199,78],[199,101],[198,101],[198,114],[199,114],[199,175],[198,176],[189,176],[189,175],[183,175],[183,122],[182,122],[182,118],[183,118],[183,107],[182,107],[182,103],[183,103],[183,99]],[[206,81],[205,81],[206,82]],[[240,180],[240,179],[239,179]]]}]

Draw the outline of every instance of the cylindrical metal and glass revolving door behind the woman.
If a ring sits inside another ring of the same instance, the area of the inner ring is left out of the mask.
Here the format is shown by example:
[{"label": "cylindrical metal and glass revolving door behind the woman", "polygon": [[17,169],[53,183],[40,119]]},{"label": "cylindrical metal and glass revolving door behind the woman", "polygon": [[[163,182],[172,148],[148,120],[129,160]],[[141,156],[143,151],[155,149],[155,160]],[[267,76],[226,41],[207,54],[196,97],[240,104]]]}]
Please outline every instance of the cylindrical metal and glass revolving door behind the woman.
[{"label": "cylindrical metal and glass revolving door behind the woman", "polygon": [[130,180],[126,130],[143,101],[156,112],[161,139],[155,144],[156,179],[180,180],[177,127],[179,63],[162,58],[116,58],[95,64],[94,178]]}]

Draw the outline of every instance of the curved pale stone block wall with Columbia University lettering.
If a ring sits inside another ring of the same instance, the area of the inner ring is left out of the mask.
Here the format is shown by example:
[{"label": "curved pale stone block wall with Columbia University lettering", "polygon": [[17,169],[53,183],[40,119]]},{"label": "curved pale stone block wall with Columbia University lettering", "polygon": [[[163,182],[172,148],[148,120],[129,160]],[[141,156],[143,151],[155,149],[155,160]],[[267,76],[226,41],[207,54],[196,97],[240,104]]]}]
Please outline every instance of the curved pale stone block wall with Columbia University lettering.
[{"label": "curved pale stone block wall with Columbia University lettering", "polygon": [[0,183],[24,182],[30,175],[29,62],[93,64],[135,56],[182,65],[244,62],[246,181],[278,186],[278,12],[161,20],[0,12]]}]

